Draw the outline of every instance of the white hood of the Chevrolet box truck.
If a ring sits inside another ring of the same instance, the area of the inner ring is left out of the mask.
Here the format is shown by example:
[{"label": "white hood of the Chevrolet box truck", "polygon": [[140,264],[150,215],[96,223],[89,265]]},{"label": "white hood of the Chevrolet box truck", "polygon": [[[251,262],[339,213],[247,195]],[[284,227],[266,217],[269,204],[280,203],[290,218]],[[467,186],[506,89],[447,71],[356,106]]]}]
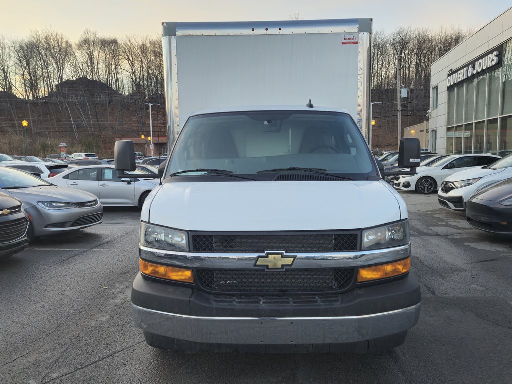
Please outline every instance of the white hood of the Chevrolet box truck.
[{"label": "white hood of the Chevrolet box truck", "polygon": [[384,181],[165,183],[142,211],[142,220],[193,231],[356,229],[407,216]]}]

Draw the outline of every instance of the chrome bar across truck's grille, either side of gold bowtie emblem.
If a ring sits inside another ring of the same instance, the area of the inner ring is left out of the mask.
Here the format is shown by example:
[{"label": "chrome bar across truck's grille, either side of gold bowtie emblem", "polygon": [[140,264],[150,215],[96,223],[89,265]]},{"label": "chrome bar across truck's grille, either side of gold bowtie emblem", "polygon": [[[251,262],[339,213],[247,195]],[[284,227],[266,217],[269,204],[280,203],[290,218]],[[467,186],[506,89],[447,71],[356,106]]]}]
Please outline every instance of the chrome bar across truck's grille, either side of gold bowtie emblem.
[{"label": "chrome bar across truck's grille, either side of gold bowtie emblem", "polygon": [[[187,253],[157,250],[139,246],[144,259],[188,268],[252,269],[262,253]],[[148,252],[148,253],[147,253]],[[291,269],[360,267],[392,262],[411,256],[411,244],[373,251],[340,253],[296,253]],[[272,272],[269,272],[272,273]]]}]

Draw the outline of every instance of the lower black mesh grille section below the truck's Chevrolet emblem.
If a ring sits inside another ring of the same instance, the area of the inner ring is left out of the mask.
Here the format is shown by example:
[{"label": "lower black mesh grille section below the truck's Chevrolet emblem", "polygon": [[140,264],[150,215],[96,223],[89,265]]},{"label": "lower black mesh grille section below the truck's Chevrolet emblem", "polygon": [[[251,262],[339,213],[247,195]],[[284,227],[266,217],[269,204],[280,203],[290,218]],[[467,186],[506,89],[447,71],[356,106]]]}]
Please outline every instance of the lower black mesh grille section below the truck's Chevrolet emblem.
[{"label": "lower black mesh grille section below the truck's Chevrolet emblem", "polygon": [[354,269],[197,270],[198,282],[215,292],[335,292],[352,286]]}]

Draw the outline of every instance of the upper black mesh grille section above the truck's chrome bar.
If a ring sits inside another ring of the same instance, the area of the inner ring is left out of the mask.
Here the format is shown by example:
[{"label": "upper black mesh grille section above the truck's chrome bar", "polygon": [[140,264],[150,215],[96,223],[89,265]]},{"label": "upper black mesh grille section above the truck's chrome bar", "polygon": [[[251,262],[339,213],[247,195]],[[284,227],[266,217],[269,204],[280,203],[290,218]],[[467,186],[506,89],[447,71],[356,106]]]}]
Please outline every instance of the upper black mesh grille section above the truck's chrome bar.
[{"label": "upper black mesh grille section above the truck's chrome bar", "polygon": [[194,252],[262,253],[357,251],[357,233],[293,235],[193,235]]}]

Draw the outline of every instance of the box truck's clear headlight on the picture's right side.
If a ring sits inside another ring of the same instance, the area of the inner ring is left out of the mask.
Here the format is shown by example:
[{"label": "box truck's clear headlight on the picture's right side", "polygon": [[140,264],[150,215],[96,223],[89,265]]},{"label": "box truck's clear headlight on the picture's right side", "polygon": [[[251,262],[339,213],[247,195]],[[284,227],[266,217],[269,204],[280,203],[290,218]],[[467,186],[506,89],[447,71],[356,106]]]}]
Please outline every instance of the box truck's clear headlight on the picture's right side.
[{"label": "box truck's clear headlight on the picture's right side", "polygon": [[409,221],[362,231],[362,249],[391,248],[409,244]]}]

